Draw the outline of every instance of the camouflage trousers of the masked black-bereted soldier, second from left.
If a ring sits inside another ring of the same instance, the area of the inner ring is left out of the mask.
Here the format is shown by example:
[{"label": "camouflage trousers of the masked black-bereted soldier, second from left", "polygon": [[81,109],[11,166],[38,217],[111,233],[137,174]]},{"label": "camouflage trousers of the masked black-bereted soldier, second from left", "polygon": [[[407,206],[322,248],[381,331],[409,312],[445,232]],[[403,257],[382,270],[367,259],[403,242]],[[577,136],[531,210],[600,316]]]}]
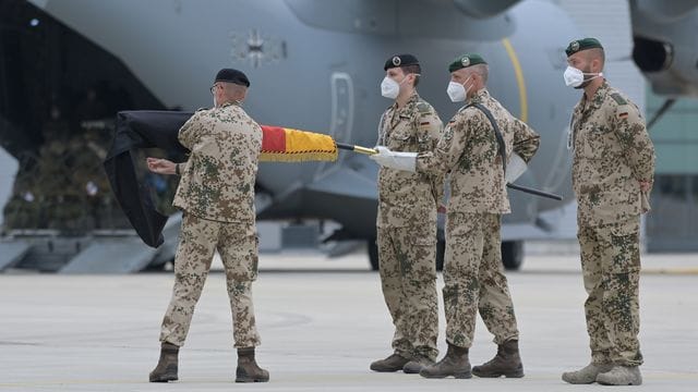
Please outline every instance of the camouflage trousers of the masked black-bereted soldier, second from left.
[{"label": "camouflage trousers of the masked black-bereted soldier, second from left", "polygon": [[395,353],[436,359],[436,223],[378,228],[378,262],[383,296],[395,333]]}]

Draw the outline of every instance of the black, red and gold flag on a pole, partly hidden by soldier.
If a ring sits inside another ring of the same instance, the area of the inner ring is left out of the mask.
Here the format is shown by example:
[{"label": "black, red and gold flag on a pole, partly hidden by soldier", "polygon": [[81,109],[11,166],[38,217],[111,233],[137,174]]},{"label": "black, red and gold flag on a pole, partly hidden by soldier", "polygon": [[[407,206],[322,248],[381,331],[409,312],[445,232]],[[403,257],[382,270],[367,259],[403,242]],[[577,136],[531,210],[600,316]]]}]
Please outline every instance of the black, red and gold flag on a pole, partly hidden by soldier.
[{"label": "black, red and gold flag on a pole, partly hidden by soldier", "polygon": [[[188,152],[179,143],[178,134],[191,115],[192,112],[178,111],[122,111],[117,115],[105,171],[129,221],[143,242],[153,247],[164,242],[167,217],[155,209],[147,185],[139,180],[134,161],[142,148],[161,148],[173,155]],[[267,125],[262,125],[262,132],[260,161],[335,161],[338,147],[374,152],[370,148],[337,144],[330,136],[318,133]]]}]

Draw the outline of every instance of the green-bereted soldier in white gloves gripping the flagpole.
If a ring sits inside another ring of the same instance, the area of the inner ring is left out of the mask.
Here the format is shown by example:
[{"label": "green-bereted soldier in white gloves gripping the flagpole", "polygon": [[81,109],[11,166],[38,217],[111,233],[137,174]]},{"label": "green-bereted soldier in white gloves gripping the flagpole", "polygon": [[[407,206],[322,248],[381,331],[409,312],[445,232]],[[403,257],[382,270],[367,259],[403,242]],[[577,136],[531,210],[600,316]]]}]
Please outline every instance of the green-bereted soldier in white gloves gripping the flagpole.
[{"label": "green-bereted soldier in white gloves gripping the flagpole", "polygon": [[[539,136],[514,118],[485,88],[486,62],[465,54],[449,66],[447,93],[453,101],[467,100],[446,125],[434,152],[397,154],[380,148],[378,163],[419,173],[449,173],[444,309],[448,352],[437,364],[421,370],[428,378],[471,377],[468,350],[472,344],[478,310],[498,345],[497,355],[472,369],[481,377],[522,377],[514,305],[504,275],[501,254],[501,215],[510,212],[502,156],[516,152],[528,161]],[[500,151],[495,130],[481,105],[501,131]]]}]

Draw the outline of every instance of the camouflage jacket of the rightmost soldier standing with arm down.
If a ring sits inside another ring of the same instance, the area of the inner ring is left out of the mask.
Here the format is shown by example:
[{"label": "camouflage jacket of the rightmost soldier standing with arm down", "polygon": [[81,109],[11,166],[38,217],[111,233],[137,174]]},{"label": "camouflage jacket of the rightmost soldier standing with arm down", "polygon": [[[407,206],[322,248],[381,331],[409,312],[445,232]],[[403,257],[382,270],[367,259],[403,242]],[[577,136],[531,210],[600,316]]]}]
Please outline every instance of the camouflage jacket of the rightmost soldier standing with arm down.
[{"label": "camouflage jacket of the rightmost soldier standing with arm down", "polygon": [[582,95],[570,133],[580,225],[616,223],[649,209],[639,182],[653,181],[654,147],[635,103],[604,81],[593,98]]}]

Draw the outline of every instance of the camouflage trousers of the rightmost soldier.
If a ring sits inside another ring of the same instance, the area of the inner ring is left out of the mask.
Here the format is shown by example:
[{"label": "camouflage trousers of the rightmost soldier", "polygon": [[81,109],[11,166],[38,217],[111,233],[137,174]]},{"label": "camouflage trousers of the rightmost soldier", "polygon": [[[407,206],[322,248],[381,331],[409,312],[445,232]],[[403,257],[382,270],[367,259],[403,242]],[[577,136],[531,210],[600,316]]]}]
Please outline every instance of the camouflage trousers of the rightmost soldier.
[{"label": "camouflage trousers of the rightmost soldier", "polygon": [[642,364],[639,315],[639,217],[602,226],[581,226],[581,269],[591,360]]}]

